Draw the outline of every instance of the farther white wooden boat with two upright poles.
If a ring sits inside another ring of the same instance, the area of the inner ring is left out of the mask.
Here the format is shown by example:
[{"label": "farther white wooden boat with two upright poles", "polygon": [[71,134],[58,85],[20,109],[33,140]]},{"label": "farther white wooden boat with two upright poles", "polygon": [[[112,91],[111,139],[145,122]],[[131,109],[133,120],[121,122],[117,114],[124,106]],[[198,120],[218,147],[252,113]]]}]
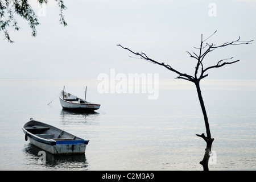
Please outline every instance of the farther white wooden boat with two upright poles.
[{"label": "farther white wooden boat with two upright poles", "polygon": [[[64,86],[65,88],[65,86]],[[85,91],[86,98],[86,91]],[[73,96],[70,93],[61,92],[60,96],[60,105],[64,110],[73,110],[73,111],[94,111],[100,109],[100,104],[94,104],[92,102],[88,102],[85,99]]]}]

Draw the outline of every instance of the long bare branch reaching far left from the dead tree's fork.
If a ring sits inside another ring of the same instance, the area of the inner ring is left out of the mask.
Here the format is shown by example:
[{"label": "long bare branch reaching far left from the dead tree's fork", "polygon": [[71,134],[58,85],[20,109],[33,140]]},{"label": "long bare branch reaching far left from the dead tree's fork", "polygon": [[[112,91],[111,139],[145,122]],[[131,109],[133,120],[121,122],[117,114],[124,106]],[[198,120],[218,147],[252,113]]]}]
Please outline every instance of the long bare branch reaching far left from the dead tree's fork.
[{"label": "long bare branch reaching far left from the dead tree's fork", "polygon": [[158,62],[158,61],[155,61],[155,60],[149,58],[149,57],[148,57],[145,53],[143,53],[143,52],[142,52],[142,53],[138,53],[138,52],[131,51],[131,49],[126,48],[126,47],[123,47],[123,46],[121,46],[120,44],[117,44],[117,46],[120,46],[120,47],[122,47],[123,49],[127,49],[128,51],[130,51],[130,52],[133,53],[134,55],[140,56],[141,59],[150,61],[150,63],[159,64],[159,65],[161,65],[161,66],[163,66],[163,67],[166,67],[166,68],[169,69],[170,71],[177,73],[177,74],[179,75],[177,78],[181,78],[181,79],[184,79],[184,80],[188,80],[188,81],[194,82],[194,79],[195,79],[195,78],[194,78],[193,76],[187,75],[187,74],[185,74],[185,73],[181,73],[181,72],[177,71],[176,69],[172,68],[170,65],[164,64],[164,62],[163,62],[163,63],[160,63],[160,62]]}]

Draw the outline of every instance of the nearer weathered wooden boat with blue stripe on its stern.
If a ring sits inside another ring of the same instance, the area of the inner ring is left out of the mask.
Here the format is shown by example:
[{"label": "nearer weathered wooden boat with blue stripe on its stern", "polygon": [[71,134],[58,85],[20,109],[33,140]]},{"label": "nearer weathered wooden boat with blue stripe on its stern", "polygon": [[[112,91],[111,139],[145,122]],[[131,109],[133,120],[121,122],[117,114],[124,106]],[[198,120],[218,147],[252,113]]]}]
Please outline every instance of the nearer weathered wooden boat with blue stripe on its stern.
[{"label": "nearer weathered wooden boat with blue stripe on its stern", "polygon": [[22,127],[25,140],[51,154],[84,154],[89,140],[76,137],[67,131],[35,121],[33,118]]}]

